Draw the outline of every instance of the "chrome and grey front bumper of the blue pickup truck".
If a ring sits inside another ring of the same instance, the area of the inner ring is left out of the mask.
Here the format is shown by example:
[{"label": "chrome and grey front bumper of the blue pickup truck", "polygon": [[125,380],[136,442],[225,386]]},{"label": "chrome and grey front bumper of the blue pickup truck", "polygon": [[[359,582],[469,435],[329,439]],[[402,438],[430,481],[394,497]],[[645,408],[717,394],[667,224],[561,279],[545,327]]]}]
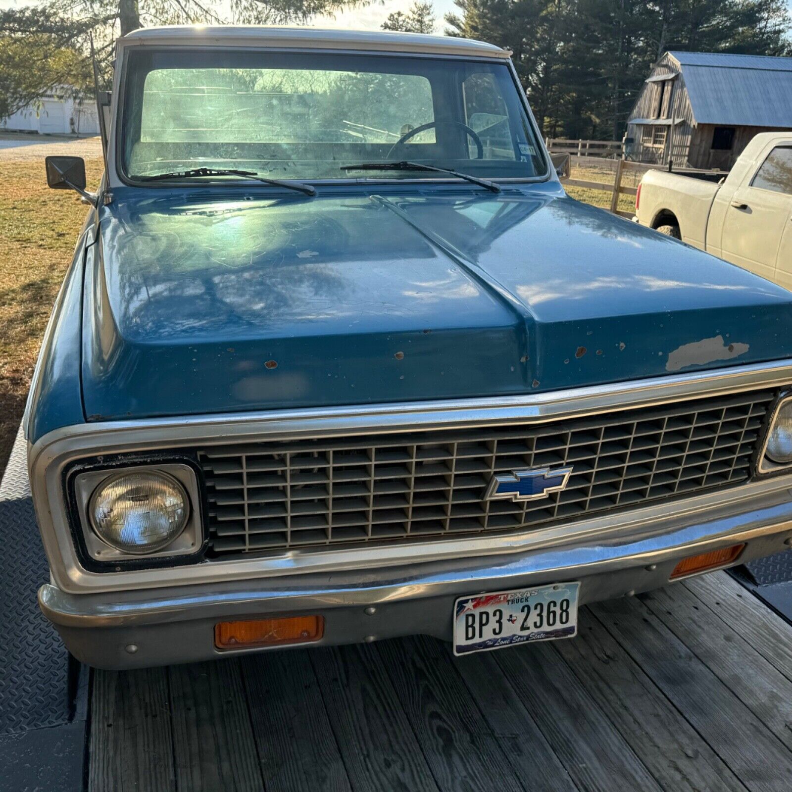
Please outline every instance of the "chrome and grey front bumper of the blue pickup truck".
[{"label": "chrome and grey front bumper of the blue pickup truck", "polygon": [[315,645],[409,634],[450,640],[459,596],[581,581],[585,604],[658,588],[680,559],[708,550],[745,543],[737,563],[783,550],[792,537],[790,497],[789,490],[777,490],[698,516],[659,520],[630,537],[588,536],[571,546],[486,558],[97,594],[46,584],[39,603],[70,652],[100,668],[272,651],[219,652],[214,626],[276,615],[322,615],[325,633]]}]

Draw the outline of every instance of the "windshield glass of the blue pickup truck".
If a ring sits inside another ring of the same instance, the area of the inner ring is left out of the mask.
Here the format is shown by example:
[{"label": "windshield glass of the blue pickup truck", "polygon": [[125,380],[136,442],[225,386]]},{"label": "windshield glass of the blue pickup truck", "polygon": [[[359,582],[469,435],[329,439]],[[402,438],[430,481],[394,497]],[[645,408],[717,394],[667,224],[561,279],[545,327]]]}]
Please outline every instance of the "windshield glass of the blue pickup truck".
[{"label": "windshield glass of the blue pickup truck", "polygon": [[[209,167],[287,179],[546,173],[506,63],[394,55],[134,51],[121,166],[135,180]],[[348,166],[366,165],[360,170]]]}]

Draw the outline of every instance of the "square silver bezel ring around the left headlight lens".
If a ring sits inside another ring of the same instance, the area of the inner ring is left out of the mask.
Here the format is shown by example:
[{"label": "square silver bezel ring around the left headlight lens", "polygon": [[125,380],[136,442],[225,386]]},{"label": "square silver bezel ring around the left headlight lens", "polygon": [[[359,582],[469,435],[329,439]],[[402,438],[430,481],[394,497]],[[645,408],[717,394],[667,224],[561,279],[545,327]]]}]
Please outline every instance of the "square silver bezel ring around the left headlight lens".
[{"label": "square silver bezel ring around the left headlight lens", "polygon": [[[172,542],[148,553],[130,553],[120,550],[102,539],[93,526],[90,516],[90,505],[95,493],[103,485],[113,479],[123,478],[128,474],[152,473],[161,474],[164,478],[175,480],[185,491],[187,498],[187,520],[185,527]],[[196,471],[185,462],[148,462],[138,464],[120,464],[118,466],[95,467],[81,470],[72,479],[72,493],[77,512],[78,547],[82,550],[87,565],[104,571],[119,571],[119,567],[161,565],[164,559],[169,562],[185,562],[192,560],[204,551],[204,531],[201,520],[201,493]]]}]

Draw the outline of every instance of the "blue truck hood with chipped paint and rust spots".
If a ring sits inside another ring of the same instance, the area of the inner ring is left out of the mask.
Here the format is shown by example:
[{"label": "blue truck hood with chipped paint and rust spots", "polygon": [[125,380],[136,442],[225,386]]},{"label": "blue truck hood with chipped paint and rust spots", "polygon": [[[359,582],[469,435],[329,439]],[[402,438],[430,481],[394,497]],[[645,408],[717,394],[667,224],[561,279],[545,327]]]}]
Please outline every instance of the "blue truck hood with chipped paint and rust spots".
[{"label": "blue truck hood with chipped paint and rust spots", "polygon": [[792,294],[548,185],[128,190],[88,258],[89,420],[521,394],[792,355]]}]

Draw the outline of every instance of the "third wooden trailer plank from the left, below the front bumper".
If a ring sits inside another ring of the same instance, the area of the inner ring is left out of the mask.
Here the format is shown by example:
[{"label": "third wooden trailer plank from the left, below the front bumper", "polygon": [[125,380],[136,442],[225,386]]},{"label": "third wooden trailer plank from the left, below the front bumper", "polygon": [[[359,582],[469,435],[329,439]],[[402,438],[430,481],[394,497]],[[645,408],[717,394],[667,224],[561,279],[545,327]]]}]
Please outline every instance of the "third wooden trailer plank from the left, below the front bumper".
[{"label": "third wooden trailer plank from the left, below the front bumper", "polygon": [[351,792],[309,653],[251,655],[242,675],[265,788]]}]

